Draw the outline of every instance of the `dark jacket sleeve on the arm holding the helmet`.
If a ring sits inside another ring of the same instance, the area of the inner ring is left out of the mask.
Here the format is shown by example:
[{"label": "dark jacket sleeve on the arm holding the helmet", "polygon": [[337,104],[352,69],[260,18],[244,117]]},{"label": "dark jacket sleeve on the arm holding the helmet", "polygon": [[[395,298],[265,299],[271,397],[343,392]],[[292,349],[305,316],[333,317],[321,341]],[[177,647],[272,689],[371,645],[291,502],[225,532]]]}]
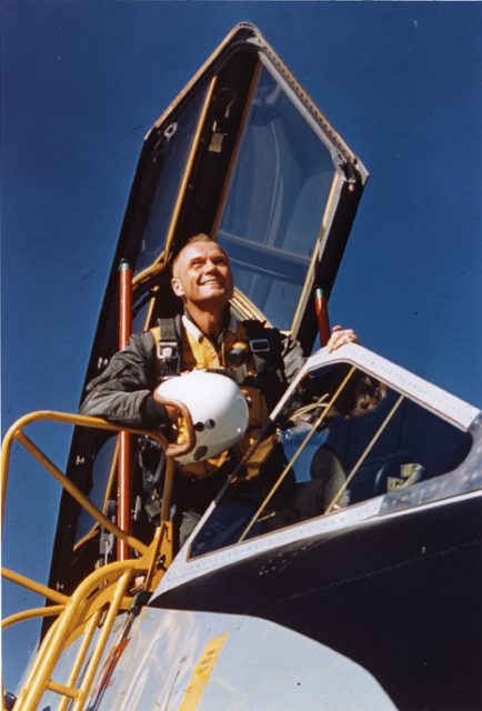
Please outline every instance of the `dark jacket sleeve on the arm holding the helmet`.
[{"label": "dark jacket sleeve on the arm holding the helmet", "polygon": [[80,414],[129,428],[157,428],[167,415],[164,408],[152,398],[155,384],[154,340],[149,332],[137,333],[88,384]]}]

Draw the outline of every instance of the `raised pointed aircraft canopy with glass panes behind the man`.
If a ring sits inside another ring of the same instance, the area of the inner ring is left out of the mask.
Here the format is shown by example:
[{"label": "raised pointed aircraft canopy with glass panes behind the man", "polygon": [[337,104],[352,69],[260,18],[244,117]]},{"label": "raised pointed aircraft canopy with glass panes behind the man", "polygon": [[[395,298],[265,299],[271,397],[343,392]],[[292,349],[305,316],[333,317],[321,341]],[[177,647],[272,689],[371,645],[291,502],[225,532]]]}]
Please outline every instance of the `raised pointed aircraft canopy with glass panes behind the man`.
[{"label": "raised pointed aircraft canopy with glass panes behind the man", "polygon": [[[317,334],[312,296],[332,289],[366,176],[260,32],[235,27],[145,137],[86,383],[118,348],[121,260],[134,276],[133,330],[149,329],[181,309],[169,268],[200,232],[230,256],[238,314],[291,331],[308,353]],[[101,508],[116,457],[103,442],[99,432],[76,430],[67,470]],[[64,495],[51,587],[71,574],[83,527]]]}]

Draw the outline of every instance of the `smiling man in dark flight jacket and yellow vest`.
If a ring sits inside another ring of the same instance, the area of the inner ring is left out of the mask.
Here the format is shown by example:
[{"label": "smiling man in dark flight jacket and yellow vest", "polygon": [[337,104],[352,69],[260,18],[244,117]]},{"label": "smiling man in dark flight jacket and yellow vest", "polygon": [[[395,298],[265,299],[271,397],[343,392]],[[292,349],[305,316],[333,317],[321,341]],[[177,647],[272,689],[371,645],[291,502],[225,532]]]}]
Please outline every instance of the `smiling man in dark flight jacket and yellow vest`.
[{"label": "smiling man in dark flight jacket and yellow vest", "polygon": [[[220,368],[232,372],[250,402],[248,431],[238,451],[230,452],[222,463],[208,460],[179,468],[181,475],[175,480],[174,502],[182,544],[224,484],[228,471],[232,471],[233,458],[239,457],[240,451],[245,452],[255,440],[270,409],[302,367],[304,357],[300,344],[278,329],[234,317],[230,309],[233,294],[230,262],[222,248],[208,236],[191,238],[179,251],[172,264],[171,286],[184,308],[172,329],[179,342],[179,358],[175,362],[159,362],[159,353],[165,349],[159,348],[162,333],[155,330],[132,336],[127,348],[116,353],[103,373],[89,383],[80,411],[129,428],[161,427],[169,433],[181,413],[157,398],[162,373]],[[263,349],[254,352],[250,344],[257,341],[263,342]],[[337,326],[328,349],[334,351],[355,341],[354,331]],[[275,460],[282,455],[280,448],[268,440],[258,451],[251,470],[244,472],[248,479],[279,471]]]}]

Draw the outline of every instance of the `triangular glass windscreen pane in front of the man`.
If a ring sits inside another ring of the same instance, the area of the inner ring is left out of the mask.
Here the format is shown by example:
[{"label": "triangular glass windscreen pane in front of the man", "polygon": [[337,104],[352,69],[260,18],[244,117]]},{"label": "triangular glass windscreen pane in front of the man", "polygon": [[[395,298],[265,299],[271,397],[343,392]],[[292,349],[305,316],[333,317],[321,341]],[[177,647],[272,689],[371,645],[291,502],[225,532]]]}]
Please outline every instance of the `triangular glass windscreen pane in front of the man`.
[{"label": "triangular glass windscreen pane in front of the man", "polygon": [[369,373],[345,363],[319,368],[237,467],[191,554],[435,479],[471,444],[468,432]]}]

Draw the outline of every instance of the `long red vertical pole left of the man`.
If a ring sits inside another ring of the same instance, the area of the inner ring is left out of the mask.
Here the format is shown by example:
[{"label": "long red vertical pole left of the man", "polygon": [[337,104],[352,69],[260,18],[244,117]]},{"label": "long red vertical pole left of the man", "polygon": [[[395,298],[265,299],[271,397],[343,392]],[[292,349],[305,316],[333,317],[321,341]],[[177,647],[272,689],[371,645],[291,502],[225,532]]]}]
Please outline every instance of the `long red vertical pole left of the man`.
[{"label": "long red vertical pole left of the man", "polygon": [[[119,264],[119,350],[125,348],[132,332],[132,270],[127,259]],[[118,523],[130,533],[131,523],[131,438],[119,434]],[[118,541],[118,560],[130,557],[125,541]]]}]

